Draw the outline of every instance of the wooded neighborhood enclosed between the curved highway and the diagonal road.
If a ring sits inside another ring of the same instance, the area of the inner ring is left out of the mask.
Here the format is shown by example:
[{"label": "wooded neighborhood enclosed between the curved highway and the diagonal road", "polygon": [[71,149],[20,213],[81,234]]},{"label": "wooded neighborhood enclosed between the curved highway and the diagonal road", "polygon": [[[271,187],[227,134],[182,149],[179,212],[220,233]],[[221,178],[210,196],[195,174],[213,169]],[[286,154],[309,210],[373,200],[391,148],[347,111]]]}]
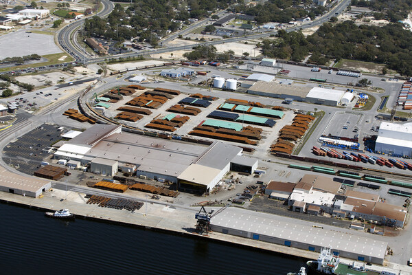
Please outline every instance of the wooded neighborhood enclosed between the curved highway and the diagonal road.
[{"label": "wooded neighborhood enclosed between the curved highway and the diagonal road", "polygon": [[187,19],[202,19],[209,16],[209,12],[214,12],[217,8],[227,8],[229,3],[234,2],[235,0],[136,0],[126,10],[116,3],[113,12],[106,19],[85,19],[84,30],[87,36],[100,36],[116,41],[138,36],[140,42],[146,41],[156,46],[167,30],[179,30],[181,22],[189,24]]}]

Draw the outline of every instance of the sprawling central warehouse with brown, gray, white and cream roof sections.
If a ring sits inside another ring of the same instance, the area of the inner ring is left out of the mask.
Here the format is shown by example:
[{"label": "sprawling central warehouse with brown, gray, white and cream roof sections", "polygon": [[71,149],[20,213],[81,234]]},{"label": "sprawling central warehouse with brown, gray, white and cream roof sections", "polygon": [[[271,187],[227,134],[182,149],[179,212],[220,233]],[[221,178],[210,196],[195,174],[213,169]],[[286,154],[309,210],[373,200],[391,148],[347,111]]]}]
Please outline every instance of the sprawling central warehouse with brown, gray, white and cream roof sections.
[{"label": "sprawling central warehouse with brown, gray, white and cream roof sections", "polygon": [[138,176],[171,181],[181,190],[209,192],[229,170],[253,173],[258,160],[242,148],[214,142],[210,146],[122,133],[121,126],[93,125],[58,148],[55,159],[91,164],[91,172],[115,175],[125,166]]}]

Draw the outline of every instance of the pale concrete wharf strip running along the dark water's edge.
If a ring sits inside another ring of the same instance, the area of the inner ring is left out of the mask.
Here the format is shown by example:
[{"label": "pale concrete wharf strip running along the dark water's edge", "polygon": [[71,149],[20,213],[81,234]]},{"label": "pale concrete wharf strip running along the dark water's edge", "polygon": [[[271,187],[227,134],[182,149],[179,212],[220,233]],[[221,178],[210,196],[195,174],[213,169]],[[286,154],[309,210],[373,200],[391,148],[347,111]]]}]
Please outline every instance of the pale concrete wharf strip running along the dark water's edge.
[{"label": "pale concrete wharf strip running along the dark water's edge", "polygon": [[[72,199],[75,197],[77,198]],[[80,219],[93,219],[97,221],[136,226],[150,230],[171,232],[173,234],[185,234],[194,238],[207,238],[213,241],[231,243],[231,245],[242,245],[253,249],[266,250],[268,252],[299,256],[304,259],[317,259],[318,257],[317,252],[290,248],[284,245],[277,245],[275,243],[256,241],[240,236],[221,234],[217,232],[209,232],[207,236],[196,234],[194,232],[196,225],[194,214],[198,212],[198,208],[191,208],[188,206],[162,205],[148,201],[148,203],[145,203],[139,210],[130,212],[127,210],[102,208],[97,204],[87,204],[87,199],[84,199],[78,193],[73,192],[67,197],[67,199],[60,199],[60,197],[55,196],[53,192],[49,191],[45,193],[44,197],[37,199],[0,192],[0,201],[15,203],[17,205],[44,211],[68,208],[71,212],[76,214],[76,217]],[[341,260],[345,263],[353,262],[346,259]],[[407,265],[396,265],[392,263],[386,263],[386,265],[387,267],[374,265],[374,269],[388,270],[388,267],[390,267],[393,269],[393,272],[397,272],[396,274],[412,274],[412,267],[408,267]]]}]

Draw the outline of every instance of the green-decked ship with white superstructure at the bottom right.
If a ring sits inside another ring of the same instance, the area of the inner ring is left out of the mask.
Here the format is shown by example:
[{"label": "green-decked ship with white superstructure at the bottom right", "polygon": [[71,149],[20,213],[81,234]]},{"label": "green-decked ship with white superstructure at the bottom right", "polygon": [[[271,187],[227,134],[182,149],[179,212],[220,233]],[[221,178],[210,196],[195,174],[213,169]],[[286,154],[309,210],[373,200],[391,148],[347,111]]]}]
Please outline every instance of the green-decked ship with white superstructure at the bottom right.
[{"label": "green-decked ship with white superstructure at the bottom right", "polygon": [[380,275],[380,272],[367,270],[366,264],[353,262],[350,265],[339,262],[339,256],[332,254],[330,248],[322,248],[317,261],[308,261],[309,274],[335,275]]}]

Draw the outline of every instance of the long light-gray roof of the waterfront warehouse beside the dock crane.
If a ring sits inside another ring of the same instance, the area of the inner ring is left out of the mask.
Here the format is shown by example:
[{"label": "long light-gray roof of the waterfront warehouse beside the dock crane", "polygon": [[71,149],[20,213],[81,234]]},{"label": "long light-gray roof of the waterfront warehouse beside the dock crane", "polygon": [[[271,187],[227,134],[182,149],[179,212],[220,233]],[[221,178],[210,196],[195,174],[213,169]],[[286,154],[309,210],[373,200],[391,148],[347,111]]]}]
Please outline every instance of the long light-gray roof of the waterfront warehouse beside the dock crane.
[{"label": "long light-gray roof of the waterfront warehouse beside the dock crane", "polygon": [[264,236],[275,237],[287,241],[296,241],[328,247],[354,254],[363,254],[378,259],[385,258],[388,243],[355,234],[313,228],[312,226],[290,223],[285,219],[277,219],[272,214],[253,212],[250,210],[227,208],[211,219],[211,225],[231,228],[243,232],[252,232]]}]

